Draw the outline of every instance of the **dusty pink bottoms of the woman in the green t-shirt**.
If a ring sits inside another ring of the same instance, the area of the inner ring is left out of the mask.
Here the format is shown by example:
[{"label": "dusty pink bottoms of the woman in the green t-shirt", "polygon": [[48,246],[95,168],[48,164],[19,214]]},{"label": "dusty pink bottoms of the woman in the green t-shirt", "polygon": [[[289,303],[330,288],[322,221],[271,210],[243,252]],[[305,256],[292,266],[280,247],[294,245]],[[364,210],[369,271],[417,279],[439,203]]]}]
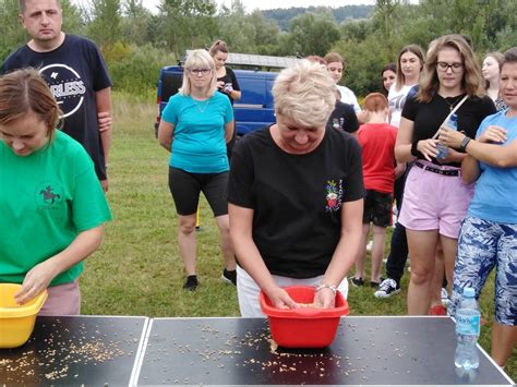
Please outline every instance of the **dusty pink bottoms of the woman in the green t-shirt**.
[{"label": "dusty pink bottoms of the woman in the green t-shirt", "polygon": [[68,316],[81,313],[81,291],[77,279],[70,283],[49,287],[47,292],[48,298],[38,313],[39,316]]}]

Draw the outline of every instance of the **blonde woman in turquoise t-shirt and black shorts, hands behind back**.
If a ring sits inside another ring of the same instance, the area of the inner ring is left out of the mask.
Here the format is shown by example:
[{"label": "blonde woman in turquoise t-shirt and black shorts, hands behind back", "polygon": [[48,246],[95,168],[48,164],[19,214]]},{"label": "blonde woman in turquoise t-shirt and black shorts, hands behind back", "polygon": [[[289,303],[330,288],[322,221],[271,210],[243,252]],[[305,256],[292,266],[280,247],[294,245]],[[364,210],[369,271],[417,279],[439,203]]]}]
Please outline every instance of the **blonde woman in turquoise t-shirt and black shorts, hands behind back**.
[{"label": "blonde woman in turquoise t-shirt and black shorts, hands behind back", "polygon": [[178,244],[187,271],[187,290],[197,288],[195,214],[200,192],[214,213],[225,259],[223,277],[236,283],[236,261],[229,237],[226,144],[233,132],[229,99],[216,93],[216,73],[206,50],[193,50],[184,64],[183,85],[164,109],[159,144],[171,153],[169,188],[178,213]]}]

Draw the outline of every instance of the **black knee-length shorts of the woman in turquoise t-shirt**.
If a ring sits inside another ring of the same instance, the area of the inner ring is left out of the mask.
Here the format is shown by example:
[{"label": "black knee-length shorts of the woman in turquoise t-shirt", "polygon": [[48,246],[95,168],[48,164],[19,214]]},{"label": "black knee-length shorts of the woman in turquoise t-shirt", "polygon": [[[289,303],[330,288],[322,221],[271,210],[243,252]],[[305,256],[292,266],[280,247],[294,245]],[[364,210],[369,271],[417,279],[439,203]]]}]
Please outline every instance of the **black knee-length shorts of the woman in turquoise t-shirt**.
[{"label": "black knee-length shorts of the woman in turquoise t-shirt", "polygon": [[195,214],[203,192],[214,216],[228,214],[228,171],[220,173],[191,173],[169,167],[169,190],[179,215]]}]

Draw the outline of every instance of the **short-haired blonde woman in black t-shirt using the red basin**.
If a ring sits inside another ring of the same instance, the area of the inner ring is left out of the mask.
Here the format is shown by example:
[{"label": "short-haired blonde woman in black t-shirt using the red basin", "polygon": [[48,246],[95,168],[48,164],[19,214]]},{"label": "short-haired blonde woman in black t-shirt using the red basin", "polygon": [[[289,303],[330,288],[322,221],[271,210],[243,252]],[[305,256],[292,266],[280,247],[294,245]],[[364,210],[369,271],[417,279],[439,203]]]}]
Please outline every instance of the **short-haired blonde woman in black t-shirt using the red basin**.
[{"label": "short-haired blonde woman in black t-shirt using the red basin", "polygon": [[244,317],[262,316],[261,289],[277,307],[297,307],[289,285],[316,287],[314,302],[333,307],[361,239],[361,149],[325,128],[336,101],[327,70],[301,60],[280,72],[273,96],[277,122],[239,141],[228,183]]}]

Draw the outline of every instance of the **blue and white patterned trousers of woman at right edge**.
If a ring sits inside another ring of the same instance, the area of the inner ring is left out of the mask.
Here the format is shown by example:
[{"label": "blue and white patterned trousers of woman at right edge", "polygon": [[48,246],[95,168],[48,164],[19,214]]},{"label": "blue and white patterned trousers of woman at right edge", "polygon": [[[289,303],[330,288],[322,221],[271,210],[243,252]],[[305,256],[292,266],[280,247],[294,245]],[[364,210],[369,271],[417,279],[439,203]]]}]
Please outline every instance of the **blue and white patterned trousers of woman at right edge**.
[{"label": "blue and white patterned trousers of woman at right edge", "polygon": [[449,314],[454,315],[462,289],[471,287],[481,293],[495,267],[495,319],[498,324],[517,325],[517,223],[498,223],[467,217],[458,240],[454,267]]}]

